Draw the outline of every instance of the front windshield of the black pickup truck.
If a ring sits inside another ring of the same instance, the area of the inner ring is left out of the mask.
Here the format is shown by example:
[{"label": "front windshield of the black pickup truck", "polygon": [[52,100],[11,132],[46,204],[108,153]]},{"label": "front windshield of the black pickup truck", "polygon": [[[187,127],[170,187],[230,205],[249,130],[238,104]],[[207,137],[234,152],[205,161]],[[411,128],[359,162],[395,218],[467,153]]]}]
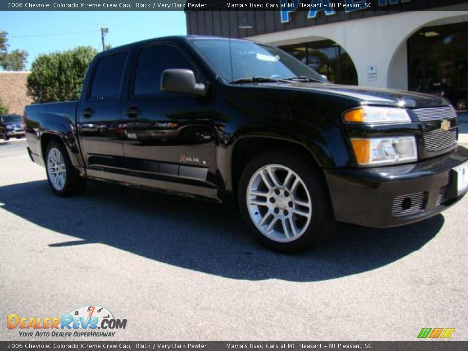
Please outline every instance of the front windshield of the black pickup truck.
[{"label": "front windshield of the black pickup truck", "polygon": [[326,81],[302,62],[273,46],[236,39],[192,39],[192,42],[229,82],[253,77]]}]

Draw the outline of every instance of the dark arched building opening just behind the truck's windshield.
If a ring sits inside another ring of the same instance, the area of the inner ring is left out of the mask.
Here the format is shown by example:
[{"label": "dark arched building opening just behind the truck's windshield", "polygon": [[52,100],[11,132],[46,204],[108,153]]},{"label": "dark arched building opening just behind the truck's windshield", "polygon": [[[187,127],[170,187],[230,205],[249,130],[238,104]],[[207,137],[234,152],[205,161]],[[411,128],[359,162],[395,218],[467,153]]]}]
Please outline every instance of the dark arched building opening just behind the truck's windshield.
[{"label": "dark arched building opening just behind the truck's windshield", "polygon": [[337,84],[358,84],[357,72],[348,52],[330,39],[279,46]]}]

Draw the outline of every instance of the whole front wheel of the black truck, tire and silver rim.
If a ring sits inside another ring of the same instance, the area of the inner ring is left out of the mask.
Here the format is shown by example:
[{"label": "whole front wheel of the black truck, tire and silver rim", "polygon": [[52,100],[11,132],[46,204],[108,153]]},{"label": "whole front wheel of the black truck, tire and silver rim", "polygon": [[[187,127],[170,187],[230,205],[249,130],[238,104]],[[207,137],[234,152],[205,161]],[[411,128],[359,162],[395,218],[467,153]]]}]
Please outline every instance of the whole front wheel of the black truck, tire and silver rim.
[{"label": "whole front wheel of the black truck, tire and silver rim", "polygon": [[254,237],[283,253],[307,250],[334,227],[326,184],[316,167],[283,152],[256,156],[239,181],[241,215]]}]

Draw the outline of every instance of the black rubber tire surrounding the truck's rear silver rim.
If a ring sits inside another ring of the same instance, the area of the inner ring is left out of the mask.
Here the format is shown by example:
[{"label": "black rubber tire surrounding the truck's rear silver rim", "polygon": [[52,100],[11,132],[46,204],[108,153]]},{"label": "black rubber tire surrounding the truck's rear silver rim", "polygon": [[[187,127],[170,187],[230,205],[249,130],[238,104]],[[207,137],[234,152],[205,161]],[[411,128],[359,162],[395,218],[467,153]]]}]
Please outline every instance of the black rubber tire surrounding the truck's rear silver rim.
[{"label": "black rubber tire surrounding the truck's rear silver rim", "polygon": [[[53,149],[59,151],[65,164],[65,184],[61,189],[58,189],[56,186],[53,185],[51,175],[49,174],[48,159],[49,153]],[[72,162],[70,161],[70,157],[68,156],[68,153],[61,142],[53,140],[47,145],[44,162],[47,180],[49,181],[50,188],[52,189],[55,195],[60,197],[73,196],[77,195],[84,189],[86,185],[86,179],[79,176],[78,170],[75,167],[73,167]]]}]

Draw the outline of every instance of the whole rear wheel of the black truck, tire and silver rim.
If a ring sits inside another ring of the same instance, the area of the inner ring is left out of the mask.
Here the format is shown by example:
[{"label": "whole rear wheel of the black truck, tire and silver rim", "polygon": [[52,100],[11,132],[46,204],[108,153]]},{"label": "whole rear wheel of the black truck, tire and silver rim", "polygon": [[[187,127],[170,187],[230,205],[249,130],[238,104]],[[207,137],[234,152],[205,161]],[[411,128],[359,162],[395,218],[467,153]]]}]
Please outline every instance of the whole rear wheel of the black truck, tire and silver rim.
[{"label": "whole rear wheel of the black truck, tire and silver rim", "polygon": [[72,196],[83,190],[86,181],[79,176],[60,142],[51,141],[45,155],[47,180],[55,195]]}]

